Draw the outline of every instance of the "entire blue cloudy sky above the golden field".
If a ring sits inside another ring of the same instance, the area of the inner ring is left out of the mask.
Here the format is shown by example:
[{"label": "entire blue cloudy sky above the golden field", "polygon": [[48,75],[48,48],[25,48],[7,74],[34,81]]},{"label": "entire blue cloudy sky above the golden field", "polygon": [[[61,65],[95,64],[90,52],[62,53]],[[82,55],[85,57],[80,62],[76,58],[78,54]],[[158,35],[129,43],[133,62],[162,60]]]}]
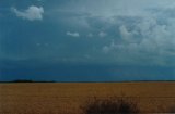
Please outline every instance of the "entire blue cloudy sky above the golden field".
[{"label": "entire blue cloudy sky above the golden field", "polygon": [[0,0],[0,80],[175,80],[174,0]]}]

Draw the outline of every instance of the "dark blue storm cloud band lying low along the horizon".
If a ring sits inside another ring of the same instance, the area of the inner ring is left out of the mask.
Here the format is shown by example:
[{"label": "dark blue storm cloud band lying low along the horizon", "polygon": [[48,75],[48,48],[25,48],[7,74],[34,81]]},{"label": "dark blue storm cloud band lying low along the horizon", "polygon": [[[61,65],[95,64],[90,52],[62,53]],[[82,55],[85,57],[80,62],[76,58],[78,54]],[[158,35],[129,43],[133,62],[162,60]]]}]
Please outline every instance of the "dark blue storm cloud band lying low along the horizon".
[{"label": "dark blue storm cloud band lying low along the horizon", "polygon": [[[11,66],[11,67],[9,67]],[[3,61],[1,80],[16,78],[56,81],[173,80],[173,67],[108,64],[43,63],[42,61]],[[127,71],[127,72],[126,72]],[[57,74],[57,75],[56,75]],[[170,75],[167,75],[170,74]],[[159,77],[159,78],[158,78]]]}]

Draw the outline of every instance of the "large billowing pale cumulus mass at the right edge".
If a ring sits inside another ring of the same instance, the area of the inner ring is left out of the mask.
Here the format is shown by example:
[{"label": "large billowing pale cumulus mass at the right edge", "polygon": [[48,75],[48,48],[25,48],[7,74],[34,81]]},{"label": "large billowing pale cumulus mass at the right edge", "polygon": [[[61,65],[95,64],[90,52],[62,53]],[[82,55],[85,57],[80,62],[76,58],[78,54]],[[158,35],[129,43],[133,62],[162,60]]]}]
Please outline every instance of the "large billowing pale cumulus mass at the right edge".
[{"label": "large billowing pale cumulus mass at the right edge", "polygon": [[[154,65],[175,64],[173,60],[175,58],[175,34],[173,31],[175,15],[172,14],[171,9],[162,9],[162,11],[158,9],[159,12],[150,12],[149,16],[114,17],[116,22],[110,24],[106,30],[109,31],[116,27],[116,34],[108,34],[113,40],[103,46],[103,52],[116,56],[117,62],[127,60],[132,64],[138,62]],[[165,13],[167,10],[168,14]]]}]

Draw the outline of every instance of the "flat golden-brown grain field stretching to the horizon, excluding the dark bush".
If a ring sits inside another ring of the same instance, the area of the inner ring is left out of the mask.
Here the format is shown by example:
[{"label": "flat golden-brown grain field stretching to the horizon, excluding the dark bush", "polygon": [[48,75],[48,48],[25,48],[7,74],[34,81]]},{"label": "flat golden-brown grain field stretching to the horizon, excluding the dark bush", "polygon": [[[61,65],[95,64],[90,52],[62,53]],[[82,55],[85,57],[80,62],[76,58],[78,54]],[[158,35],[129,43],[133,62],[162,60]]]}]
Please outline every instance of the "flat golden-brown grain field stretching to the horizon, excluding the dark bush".
[{"label": "flat golden-brown grain field stretching to the horizon, excluding the dark bush", "polygon": [[94,97],[122,97],[141,112],[175,111],[175,83],[0,84],[0,114],[82,114]]}]

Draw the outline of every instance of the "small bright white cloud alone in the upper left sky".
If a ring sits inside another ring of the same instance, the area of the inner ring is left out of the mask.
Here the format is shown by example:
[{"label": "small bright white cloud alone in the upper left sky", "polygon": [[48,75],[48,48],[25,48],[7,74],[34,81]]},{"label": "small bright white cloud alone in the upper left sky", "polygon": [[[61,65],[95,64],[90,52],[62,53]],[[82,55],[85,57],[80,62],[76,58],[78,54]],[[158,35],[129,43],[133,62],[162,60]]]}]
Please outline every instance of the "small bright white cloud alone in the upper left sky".
[{"label": "small bright white cloud alone in the upper left sky", "polygon": [[40,21],[43,20],[44,8],[31,5],[24,11],[19,11],[16,8],[11,8],[11,11],[16,14],[16,16],[28,21]]}]

